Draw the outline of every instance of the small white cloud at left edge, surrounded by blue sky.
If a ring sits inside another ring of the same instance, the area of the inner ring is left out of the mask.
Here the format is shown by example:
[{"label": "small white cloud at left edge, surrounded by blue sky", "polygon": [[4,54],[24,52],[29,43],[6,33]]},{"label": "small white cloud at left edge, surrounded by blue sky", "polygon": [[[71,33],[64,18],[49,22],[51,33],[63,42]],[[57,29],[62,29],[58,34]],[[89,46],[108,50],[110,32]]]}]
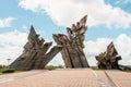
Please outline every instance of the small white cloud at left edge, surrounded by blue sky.
[{"label": "small white cloud at left edge, surrounded by blue sky", "polygon": [[4,28],[4,27],[10,27],[11,22],[14,20],[14,17],[7,17],[3,20],[0,20],[0,28]]}]

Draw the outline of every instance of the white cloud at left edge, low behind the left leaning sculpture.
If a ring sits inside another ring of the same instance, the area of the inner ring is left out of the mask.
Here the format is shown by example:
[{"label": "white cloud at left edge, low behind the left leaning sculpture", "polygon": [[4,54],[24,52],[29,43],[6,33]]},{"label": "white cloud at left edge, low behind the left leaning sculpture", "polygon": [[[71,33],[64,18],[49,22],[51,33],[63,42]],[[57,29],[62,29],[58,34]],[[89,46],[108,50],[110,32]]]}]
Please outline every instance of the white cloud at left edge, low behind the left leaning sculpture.
[{"label": "white cloud at left edge, low behind the left leaning sculpture", "polygon": [[16,59],[23,52],[26,38],[26,33],[17,30],[0,34],[0,64],[7,64],[7,59]]}]

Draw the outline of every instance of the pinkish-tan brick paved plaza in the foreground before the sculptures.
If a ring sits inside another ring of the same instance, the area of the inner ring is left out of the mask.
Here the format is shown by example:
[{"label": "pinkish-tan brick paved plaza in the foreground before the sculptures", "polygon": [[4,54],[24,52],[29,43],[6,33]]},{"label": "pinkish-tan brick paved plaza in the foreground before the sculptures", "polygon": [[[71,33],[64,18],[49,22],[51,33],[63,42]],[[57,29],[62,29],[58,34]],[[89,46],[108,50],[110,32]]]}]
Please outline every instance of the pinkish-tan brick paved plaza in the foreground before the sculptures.
[{"label": "pinkish-tan brick paved plaza in the foreground before the sculptures", "polygon": [[1,75],[0,87],[131,87],[131,73],[69,69]]}]

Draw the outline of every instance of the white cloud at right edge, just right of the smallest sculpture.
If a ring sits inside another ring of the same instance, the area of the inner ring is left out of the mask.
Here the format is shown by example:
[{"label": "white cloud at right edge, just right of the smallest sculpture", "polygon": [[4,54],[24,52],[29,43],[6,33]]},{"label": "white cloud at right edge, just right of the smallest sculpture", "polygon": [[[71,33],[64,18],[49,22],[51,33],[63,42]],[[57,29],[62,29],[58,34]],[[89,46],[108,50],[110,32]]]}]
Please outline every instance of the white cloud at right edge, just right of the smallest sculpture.
[{"label": "white cloud at right edge, just right of the smallest sculpture", "polygon": [[131,37],[127,36],[126,34],[121,34],[116,39],[116,48],[118,49],[119,54],[121,54],[122,60],[120,61],[121,64],[130,64],[131,61]]}]

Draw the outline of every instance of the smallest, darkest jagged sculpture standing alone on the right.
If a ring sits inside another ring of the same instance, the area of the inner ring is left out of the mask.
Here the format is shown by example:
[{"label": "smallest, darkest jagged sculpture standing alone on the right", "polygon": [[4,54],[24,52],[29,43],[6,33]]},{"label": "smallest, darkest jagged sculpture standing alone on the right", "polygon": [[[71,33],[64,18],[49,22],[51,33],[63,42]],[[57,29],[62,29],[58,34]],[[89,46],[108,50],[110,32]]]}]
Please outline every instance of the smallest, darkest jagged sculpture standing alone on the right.
[{"label": "smallest, darkest jagged sculpture standing alone on the right", "polygon": [[102,52],[99,55],[95,57],[97,60],[98,69],[104,70],[118,70],[118,61],[121,60],[121,57],[118,55],[118,52],[112,42],[107,47],[106,52]]}]

